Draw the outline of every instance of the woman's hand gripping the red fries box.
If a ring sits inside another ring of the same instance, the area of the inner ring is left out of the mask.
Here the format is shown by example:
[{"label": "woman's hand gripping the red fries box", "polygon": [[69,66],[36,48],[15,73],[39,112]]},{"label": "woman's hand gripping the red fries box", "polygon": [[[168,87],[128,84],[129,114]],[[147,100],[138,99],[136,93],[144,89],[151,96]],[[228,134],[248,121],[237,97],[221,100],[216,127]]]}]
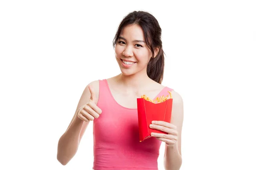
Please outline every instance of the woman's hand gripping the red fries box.
[{"label": "woman's hand gripping the red fries box", "polygon": [[158,140],[166,142],[168,146],[174,146],[178,139],[177,127],[171,123],[163,121],[152,121],[152,124],[149,125],[151,129],[161,130],[168,134],[164,133],[151,133],[151,136],[156,137]]}]

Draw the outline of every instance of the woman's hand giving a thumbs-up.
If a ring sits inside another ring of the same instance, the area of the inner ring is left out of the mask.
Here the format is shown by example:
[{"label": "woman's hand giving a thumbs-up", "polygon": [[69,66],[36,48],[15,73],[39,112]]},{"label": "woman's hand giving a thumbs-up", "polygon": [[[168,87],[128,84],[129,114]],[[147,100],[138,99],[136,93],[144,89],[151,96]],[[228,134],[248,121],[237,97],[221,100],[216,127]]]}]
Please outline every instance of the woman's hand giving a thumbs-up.
[{"label": "woman's hand giving a thumbs-up", "polygon": [[96,105],[96,96],[93,88],[90,85],[88,88],[90,90],[90,99],[87,104],[79,108],[77,113],[79,119],[85,122],[99,118],[99,115],[102,113],[102,110]]}]

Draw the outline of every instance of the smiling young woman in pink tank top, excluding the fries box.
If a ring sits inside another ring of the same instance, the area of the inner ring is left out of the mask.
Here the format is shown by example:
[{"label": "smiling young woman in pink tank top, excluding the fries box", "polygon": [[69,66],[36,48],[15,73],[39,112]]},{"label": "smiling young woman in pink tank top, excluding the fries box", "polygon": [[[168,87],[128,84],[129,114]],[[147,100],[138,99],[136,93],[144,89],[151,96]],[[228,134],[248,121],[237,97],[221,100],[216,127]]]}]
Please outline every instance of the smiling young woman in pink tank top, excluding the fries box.
[{"label": "smiling young woman in pink tank top, excluding the fries box", "polygon": [[[171,88],[161,85],[164,53],[161,28],[154,16],[133,11],[120,23],[113,40],[121,74],[90,82],[79,100],[76,113],[58,142],[57,159],[67,164],[79,147],[90,121],[93,121],[94,170],[158,170],[161,142],[165,142],[164,167],[179,170],[183,100]],[[137,98],[151,99],[172,91],[171,122],[153,121],[151,133],[139,141]]]}]

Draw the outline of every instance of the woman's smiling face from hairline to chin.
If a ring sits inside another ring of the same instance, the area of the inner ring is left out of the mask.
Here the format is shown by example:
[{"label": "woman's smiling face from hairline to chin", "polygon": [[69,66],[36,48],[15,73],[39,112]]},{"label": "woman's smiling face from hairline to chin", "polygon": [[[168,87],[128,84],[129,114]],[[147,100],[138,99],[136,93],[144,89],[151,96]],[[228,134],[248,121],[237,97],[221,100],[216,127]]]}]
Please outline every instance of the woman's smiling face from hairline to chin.
[{"label": "woman's smiling face from hairline to chin", "polygon": [[143,71],[146,73],[152,53],[139,25],[128,25],[122,29],[116,42],[115,54],[122,74],[128,76]]}]

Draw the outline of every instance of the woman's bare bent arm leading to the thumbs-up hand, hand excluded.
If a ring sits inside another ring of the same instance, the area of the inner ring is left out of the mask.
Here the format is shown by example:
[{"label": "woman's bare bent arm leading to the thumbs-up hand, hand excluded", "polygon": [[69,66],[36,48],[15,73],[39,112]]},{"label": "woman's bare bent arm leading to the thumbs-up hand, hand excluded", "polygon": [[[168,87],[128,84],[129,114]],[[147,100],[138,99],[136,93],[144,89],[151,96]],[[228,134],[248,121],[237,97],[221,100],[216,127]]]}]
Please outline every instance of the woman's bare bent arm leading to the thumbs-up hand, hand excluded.
[{"label": "woman's bare bent arm leading to the thumbs-up hand, hand excluded", "polygon": [[[99,81],[91,82],[89,85],[95,89],[97,101],[99,96]],[[89,124],[89,122],[84,122],[77,116],[79,108],[85,105],[89,99],[90,91],[87,85],[83,91],[83,94],[81,95],[76,108],[76,112],[70,122],[70,125],[67,127],[67,130],[58,141],[57,159],[63,165],[66,165],[73,158],[73,156],[75,156],[81,138]]]}]

